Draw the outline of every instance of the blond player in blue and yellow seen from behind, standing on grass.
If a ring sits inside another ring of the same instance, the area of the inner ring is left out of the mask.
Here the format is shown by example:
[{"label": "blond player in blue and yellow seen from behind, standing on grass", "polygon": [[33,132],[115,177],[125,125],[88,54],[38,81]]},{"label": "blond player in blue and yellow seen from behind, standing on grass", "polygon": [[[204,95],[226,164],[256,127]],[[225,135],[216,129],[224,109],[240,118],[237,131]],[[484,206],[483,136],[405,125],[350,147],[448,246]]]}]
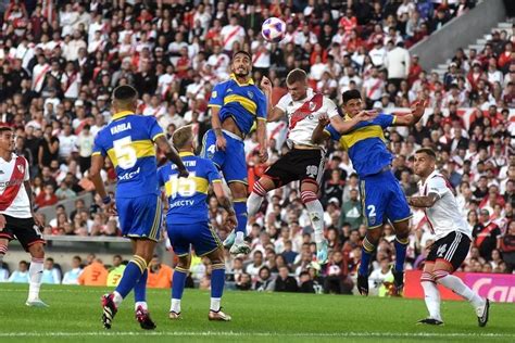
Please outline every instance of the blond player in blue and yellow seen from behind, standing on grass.
[{"label": "blond player in blue and yellow seen from behind, standing on grass", "polygon": [[206,256],[212,264],[211,306],[209,320],[229,321],[230,316],[222,312],[221,301],[225,283],[224,246],[213,230],[205,202],[210,185],[222,207],[228,213],[227,226],[236,226],[236,213],[224,192],[218,170],[213,162],[193,154],[196,141],[191,126],[177,129],[173,136],[174,147],[179,151],[189,172],[188,178],[177,178],[177,166],[165,164],[158,170],[161,187],[168,199],[166,227],[169,242],[179,261],[172,282],[169,319],[179,319],[180,301],[185,281],[191,264],[190,244],[197,256]]}]

